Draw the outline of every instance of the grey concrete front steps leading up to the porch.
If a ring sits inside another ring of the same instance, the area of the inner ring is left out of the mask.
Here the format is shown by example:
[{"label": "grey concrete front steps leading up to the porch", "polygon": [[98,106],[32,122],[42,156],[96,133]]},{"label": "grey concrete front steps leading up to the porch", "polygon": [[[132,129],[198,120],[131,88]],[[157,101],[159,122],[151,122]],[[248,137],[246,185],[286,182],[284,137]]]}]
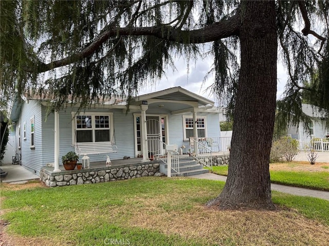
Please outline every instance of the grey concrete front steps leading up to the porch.
[{"label": "grey concrete front steps leading up to the porch", "polygon": [[[208,172],[209,170],[204,169],[204,166],[198,164],[194,159],[179,159],[179,174],[171,170],[171,176],[188,177]],[[168,165],[166,163],[160,163],[160,173],[168,175]]]}]

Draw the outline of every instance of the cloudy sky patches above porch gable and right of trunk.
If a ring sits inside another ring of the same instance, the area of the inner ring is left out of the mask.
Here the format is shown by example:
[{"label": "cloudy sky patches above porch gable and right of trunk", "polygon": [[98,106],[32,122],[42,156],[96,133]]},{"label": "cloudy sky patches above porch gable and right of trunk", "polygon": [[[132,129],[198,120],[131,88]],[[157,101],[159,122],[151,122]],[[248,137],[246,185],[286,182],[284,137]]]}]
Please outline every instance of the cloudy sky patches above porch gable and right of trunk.
[{"label": "cloudy sky patches above porch gable and right of trunk", "polygon": [[[166,70],[166,75],[163,76],[154,85],[147,85],[139,91],[139,95],[165,90],[171,87],[180,86],[186,90],[189,90],[195,94],[206,97],[215,101],[215,105],[220,105],[220,102],[216,101],[215,97],[211,92],[206,90],[211,84],[213,84],[214,76],[209,76],[203,83],[204,77],[208,71],[210,71],[212,65],[211,59],[202,60],[198,59],[196,63],[190,61],[188,66],[187,61],[183,58],[177,58],[175,61],[176,70],[173,71],[172,68]],[[287,81],[287,72],[278,61],[278,90],[277,99],[282,97],[284,92],[284,87]]]}]

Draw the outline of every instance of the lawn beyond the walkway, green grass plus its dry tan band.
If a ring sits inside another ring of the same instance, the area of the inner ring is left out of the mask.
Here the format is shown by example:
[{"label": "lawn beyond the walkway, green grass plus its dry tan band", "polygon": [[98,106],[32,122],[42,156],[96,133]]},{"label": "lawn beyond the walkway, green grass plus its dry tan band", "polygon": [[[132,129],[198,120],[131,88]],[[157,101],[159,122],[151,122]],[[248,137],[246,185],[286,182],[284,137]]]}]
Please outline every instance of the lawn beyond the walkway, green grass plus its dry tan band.
[{"label": "lawn beyond the walkway, green grass plus its dry tan band", "polygon": [[[305,161],[270,163],[272,183],[329,191],[329,163],[310,165]],[[228,166],[215,166],[213,172],[227,176]]]}]

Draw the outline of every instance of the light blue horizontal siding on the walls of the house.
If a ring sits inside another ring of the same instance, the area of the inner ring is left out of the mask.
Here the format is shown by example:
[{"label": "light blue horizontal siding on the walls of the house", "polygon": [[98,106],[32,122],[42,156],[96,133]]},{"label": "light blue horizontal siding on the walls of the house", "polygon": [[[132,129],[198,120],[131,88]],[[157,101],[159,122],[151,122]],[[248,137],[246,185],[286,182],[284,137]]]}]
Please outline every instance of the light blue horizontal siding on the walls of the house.
[{"label": "light blue horizontal siding on the walls of the house", "polygon": [[[68,151],[75,151],[72,145],[72,114],[78,109],[67,108],[60,111],[60,165],[62,165],[61,157]],[[126,113],[123,110],[113,110],[104,108],[87,109],[88,112],[113,113],[115,142],[118,147],[117,153],[109,153],[111,159],[122,159],[123,156],[135,157],[135,132],[134,132],[134,114]],[[176,144],[178,147],[182,145],[189,149],[189,141],[184,141],[184,128],[182,115],[171,115],[166,109],[150,109],[147,115],[168,115],[168,139],[169,144]],[[30,118],[34,115],[35,125],[35,148],[30,148]],[[188,115],[188,114],[185,114]],[[198,116],[206,116],[206,130],[208,137],[219,137],[220,123],[218,114],[215,113],[199,113]],[[192,117],[192,114],[191,114]],[[23,122],[26,121],[26,140],[23,139]],[[29,104],[24,103],[22,106],[21,118],[16,125],[21,125],[22,133],[22,165],[31,171],[39,174],[40,168],[46,163],[54,162],[54,114],[47,115],[47,108],[42,106],[36,100],[30,100]],[[16,134],[16,143],[18,144],[18,134]],[[17,148],[18,150],[18,148]],[[104,161],[106,154],[88,155],[90,161]],[[80,156],[81,161],[82,156]]]}]

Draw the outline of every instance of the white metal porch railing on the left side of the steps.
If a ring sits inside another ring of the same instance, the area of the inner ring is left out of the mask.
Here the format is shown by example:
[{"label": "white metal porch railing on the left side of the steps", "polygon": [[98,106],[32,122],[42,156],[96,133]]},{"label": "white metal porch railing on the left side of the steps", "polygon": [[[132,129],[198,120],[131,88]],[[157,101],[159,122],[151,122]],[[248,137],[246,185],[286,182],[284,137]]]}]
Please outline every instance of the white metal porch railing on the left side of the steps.
[{"label": "white metal porch railing on the left side of the steps", "polygon": [[[160,159],[168,165],[167,160],[167,144],[159,138],[148,139],[149,155],[155,159]],[[180,150],[180,153],[182,150]],[[150,157],[151,158],[151,157]],[[171,169],[179,174],[179,152],[171,151]]]}]

